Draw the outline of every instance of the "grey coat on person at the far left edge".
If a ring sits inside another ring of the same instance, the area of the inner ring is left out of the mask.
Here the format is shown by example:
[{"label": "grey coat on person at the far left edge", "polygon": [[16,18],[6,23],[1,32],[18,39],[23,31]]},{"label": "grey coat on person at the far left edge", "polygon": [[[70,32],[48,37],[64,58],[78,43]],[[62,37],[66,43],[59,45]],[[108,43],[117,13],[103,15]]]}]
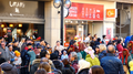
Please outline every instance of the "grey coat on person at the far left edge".
[{"label": "grey coat on person at the far left edge", "polygon": [[1,54],[0,54],[0,57],[3,57],[6,61],[10,61],[10,51],[9,51],[9,49],[6,46],[6,49],[2,49],[1,46],[0,46],[0,52],[1,52]]}]

